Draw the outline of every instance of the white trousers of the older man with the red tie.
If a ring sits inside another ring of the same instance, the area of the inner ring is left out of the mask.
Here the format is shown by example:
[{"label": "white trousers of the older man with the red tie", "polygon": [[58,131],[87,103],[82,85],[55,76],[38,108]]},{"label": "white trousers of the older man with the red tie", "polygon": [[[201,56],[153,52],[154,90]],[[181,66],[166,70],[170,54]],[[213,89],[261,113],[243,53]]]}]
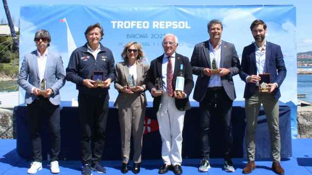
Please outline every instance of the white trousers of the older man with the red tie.
[{"label": "white trousers of the older man with the red tie", "polygon": [[162,140],[161,157],[167,165],[182,163],[182,130],[185,111],[176,108],[174,97],[161,96],[156,113]]}]

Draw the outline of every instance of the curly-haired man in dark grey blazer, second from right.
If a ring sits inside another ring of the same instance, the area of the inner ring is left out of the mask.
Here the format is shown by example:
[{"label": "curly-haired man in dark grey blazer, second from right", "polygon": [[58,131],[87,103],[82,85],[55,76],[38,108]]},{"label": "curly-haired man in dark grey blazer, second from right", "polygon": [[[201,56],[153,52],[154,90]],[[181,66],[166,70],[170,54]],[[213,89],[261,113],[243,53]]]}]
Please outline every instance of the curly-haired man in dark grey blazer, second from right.
[{"label": "curly-haired man in dark grey blazer, second from right", "polygon": [[236,98],[233,76],[238,74],[239,59],[234,45],[221,40],[222,22],[213,19],[207,27],[210,39],[196,44],[191,58],[193,74],[198,76],[193,96],[200,109],[202,160],[198,171],[207,172],[210,168],[210,120],[221,117],[225,128],[224,169],[234,172],[231,111]]}]

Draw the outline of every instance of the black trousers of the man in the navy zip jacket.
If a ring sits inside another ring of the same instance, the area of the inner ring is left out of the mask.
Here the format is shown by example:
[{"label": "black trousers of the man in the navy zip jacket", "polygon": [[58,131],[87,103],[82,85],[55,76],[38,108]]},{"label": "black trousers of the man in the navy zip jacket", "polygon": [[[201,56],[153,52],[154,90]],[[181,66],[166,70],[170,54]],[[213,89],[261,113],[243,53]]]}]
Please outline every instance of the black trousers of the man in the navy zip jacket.
[{"label": "black trousers of the man in the navy zip jacket", "polygon": [[82,163],[101,161],[107,122],[109,94],[88,95],[79,92],[78,110],[81,126]]}]

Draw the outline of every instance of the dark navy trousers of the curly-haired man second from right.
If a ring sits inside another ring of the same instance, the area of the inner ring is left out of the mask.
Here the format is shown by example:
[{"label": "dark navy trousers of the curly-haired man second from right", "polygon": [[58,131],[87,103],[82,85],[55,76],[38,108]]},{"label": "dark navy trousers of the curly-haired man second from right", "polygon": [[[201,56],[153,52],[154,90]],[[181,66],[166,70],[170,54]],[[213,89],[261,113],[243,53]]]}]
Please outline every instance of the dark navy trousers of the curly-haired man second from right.
[{"label": "dark navy trousers of the curly-haired man second from right", "polygon": [[199,103],[200,110],[200,127],[201,127],[201,142],[202,142],[202,158],[209,160],[210,157],[210,121],[211,118],[221,118],[224,128],[224,158],[231,158],[231,148],[233,143],[232,135],[232,111],[233,101],[228,97],[223,88],[212,89],[208,88],[204,99]]}]

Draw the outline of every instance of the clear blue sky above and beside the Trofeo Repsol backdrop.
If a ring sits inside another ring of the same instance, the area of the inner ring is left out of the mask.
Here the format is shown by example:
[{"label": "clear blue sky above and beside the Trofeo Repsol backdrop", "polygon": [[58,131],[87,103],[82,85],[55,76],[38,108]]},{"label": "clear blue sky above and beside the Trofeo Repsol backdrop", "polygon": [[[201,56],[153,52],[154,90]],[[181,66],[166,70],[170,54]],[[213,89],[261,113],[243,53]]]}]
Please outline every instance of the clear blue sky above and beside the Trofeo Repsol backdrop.
[{"label": "clear blue sky above and beside the Trofeo Repsol backdrop", "polygon": [[[282,5],[293,4],[296,6],[297,28],[297,53],[312,51],[312,0],[7,0],[10,8],[11,16],[18,20],[20,18],[20,6],[33,4],[84,4],[84,5],[105,5],[105,4],[175,4],[175,5]],[[157,2],[157,3],[155,3]],[[2,0],[0,1],[0,19],[5,17]]]}]

